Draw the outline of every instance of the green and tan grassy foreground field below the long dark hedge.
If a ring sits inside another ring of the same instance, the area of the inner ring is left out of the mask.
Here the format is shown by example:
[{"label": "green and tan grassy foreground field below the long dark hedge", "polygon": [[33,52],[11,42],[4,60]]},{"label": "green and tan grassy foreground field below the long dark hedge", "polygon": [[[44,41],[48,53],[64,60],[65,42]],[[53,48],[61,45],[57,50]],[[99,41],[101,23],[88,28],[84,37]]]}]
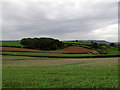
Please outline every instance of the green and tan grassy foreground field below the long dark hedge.
[{"label": "green and tan grassy foreground field below the long dark hedge", "polygon": [[3,56],[3,88],[117,88],[118,58]]}]

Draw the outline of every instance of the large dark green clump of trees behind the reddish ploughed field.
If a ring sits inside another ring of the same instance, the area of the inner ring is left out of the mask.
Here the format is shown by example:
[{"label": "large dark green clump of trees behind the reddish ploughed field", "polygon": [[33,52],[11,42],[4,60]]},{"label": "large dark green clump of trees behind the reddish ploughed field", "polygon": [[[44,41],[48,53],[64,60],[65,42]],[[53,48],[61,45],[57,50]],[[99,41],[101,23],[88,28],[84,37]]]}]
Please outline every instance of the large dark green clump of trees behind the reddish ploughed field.
[{"label": "large dark green clump of trees behind the reddish ploughed field", "polygon": [[23,38],[20,42],[23,47],[39,50],[56,50],[64,48],[64,43],[53,38]]}]

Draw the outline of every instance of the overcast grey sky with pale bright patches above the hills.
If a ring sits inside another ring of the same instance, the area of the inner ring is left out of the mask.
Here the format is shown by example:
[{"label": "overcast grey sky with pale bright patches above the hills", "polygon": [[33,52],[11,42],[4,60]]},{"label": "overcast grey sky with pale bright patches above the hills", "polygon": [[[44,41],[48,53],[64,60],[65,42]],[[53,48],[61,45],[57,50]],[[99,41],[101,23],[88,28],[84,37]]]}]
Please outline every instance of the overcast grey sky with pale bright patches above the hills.
[{"label": "overcast grey sky with pale bright patches above the hills", "polygon": [[2,3],[2,40],[43,36],[59,40],[118,40],[116,0],[30,1]]}]

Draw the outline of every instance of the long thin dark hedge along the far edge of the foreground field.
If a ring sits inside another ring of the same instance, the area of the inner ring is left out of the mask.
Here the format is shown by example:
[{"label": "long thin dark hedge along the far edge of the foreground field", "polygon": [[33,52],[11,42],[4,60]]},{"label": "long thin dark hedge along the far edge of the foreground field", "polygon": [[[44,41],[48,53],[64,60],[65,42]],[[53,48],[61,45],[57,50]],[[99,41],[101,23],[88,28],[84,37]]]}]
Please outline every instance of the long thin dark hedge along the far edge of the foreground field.
[{"label": "long thin dark hedge along the far edge of the foreground field", "polygon": [[7,56],[28,56],[28,57],[48,57],[48,58],[107,58],[120,57],[120,55],[106,55],[106,56],[39,56],[39,55],[14,55],[14,54],[0,54]]}]

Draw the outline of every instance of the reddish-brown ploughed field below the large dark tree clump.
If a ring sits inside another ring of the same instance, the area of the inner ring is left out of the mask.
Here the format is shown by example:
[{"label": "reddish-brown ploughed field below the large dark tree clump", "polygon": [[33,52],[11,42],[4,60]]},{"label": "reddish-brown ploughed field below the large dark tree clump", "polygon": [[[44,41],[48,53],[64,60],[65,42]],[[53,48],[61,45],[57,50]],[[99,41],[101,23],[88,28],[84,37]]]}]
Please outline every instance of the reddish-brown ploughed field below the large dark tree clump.
[{"label": "reddish-brown ploughed field below the large dark tree clump", "polygon": [[83,47],[70,46],[64,49],[52,50],[52,51],[42,51],[34,49],[25,49],[25,48],[12,48],[12,47],[2,47],[2,51],[25,51],[25,52],[51,52],[51,53],[89,53],[94,50],[90,50]]}]

